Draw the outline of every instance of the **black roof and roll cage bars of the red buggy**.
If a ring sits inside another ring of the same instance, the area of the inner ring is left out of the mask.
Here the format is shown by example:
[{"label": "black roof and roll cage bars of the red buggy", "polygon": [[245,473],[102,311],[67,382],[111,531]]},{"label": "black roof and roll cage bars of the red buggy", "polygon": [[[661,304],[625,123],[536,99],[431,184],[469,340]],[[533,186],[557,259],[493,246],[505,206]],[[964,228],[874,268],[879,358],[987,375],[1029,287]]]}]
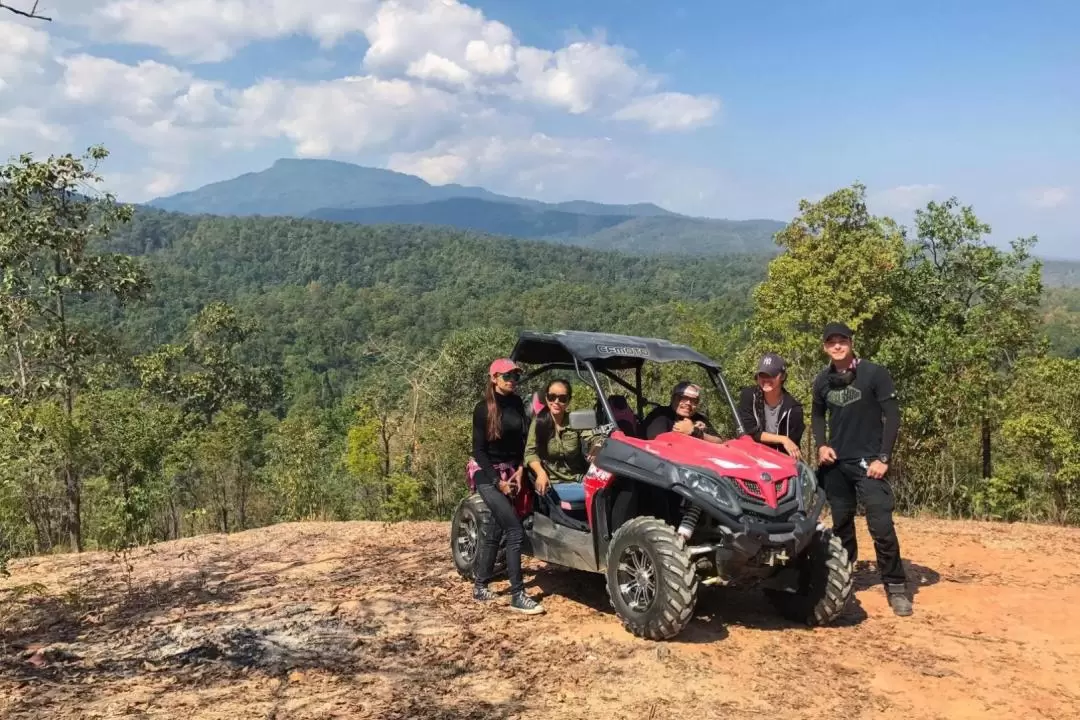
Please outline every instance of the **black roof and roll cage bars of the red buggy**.
[{"label": "black roof and roll cage bars of the red buggy", "polygon": [[[727,400],[731,417],[735,422],[737,434],[739,436],[746,434],[746,429],[739,418],[739,411],[735,409],[734,400],[720,372],[719,365],[686,345],[653,338],[577,330],[550,334],[522,332],[510,358],[515,363],[538,366],[523,375],[523,382],[550,370],[572,370],[582,382],[591,385],[595,391],[604,415],[607,417],[608,423],[611,424],[616,423],[615,413],[608,404],[607,394],[600,386],[599,375],[633,393],[636,412],[638,417],[642,417],[645,413],[646,403],[642,389],[642,368],[646,359],[658,363],[689,362],[705,371],[715,390]],[[588,378],[582,372],[582,367],[588,371]],[[612,371],[615,369],[633,369],[634,384],[631,385],[616,375]],[[652,400],[648,402],[652,405],[659,405]]]}]

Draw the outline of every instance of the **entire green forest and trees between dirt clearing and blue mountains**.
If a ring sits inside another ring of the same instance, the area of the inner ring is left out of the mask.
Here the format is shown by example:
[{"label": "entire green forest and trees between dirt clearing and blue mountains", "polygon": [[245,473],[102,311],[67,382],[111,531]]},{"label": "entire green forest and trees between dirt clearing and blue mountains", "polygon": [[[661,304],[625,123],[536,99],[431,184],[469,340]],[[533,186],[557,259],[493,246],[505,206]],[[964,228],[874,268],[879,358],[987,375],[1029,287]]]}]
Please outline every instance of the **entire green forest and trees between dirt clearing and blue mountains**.
[{"label": "entire green forest and trees between dirt clearing and blue mountains", "polygon": [[[777,350],[806,397],[837,317],[901,389],[902,510],[1080,520],[1075,296],[1044,293],[1030,243],[987,246],[956,203],[905,235],[853,186],[805,203],[771,261],[687,262],[409,226],[132,216],[80,202],[92,179],[73,158],[0,175],[6,553],[447,517],[484,368],[516,330],[688,341],[737,386]],[[676,372],[650,376],[649,395]]]}]

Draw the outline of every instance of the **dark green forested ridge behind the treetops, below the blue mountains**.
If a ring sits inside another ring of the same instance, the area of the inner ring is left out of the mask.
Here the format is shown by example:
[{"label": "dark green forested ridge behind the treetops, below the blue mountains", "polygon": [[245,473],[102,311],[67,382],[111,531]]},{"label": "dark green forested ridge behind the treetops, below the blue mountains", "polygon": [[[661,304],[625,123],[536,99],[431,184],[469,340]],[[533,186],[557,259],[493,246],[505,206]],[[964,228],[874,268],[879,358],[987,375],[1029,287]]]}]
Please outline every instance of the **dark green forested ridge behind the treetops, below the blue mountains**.
[{"label": "dark green forested ridge behind the treetops, below the blue mountains", "polygon": [[447,229],[157,210],[137,212],[106,247],[146,255],[154,277],[121,320],[139,348],[226,300],[259,317],[283,355],[311,334],[339,353],[368,337],[430,347],[474,326],[663,332],[679,302],[730,324],[748,315],[766,268],[754,256],[686,263]]}]

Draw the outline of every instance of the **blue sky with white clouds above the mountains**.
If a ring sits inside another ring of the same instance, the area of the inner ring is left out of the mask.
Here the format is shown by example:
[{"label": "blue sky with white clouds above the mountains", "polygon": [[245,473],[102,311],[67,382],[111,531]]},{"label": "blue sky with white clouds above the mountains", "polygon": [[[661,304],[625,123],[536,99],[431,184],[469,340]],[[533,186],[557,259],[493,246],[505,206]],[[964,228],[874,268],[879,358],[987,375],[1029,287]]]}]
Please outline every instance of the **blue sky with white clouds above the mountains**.
[{"label": "blue sky with white clouds above the mountains", "polygon": [[279,157],[780,220],[861,181],[901,221],[955,195],[1080,258],[1072,2],[42,6],[0,17],[0,151],[105,142],[124,199]]}]

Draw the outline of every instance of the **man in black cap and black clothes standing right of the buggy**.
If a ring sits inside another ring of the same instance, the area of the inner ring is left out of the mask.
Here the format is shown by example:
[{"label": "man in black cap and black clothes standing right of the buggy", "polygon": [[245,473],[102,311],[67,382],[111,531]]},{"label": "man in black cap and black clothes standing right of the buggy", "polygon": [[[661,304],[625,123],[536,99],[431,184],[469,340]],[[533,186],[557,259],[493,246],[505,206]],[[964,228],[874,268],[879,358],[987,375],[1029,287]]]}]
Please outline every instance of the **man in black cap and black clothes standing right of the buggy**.
[{"label": "man in black cap and black clothes standing right of the buggy", "polygon": [[832,362],[813,383],[811,429],[818,462],[833,512],[833,531],[854,562],[859,552],[855,505],[861,495],[889,606],[897,615],[910,615],[907,578],[892,521],[892,488],[886,479],[900,431],[900,405],[889,370],[856,357],[852,335],[843,323],[829,323],[822,334]]}]

